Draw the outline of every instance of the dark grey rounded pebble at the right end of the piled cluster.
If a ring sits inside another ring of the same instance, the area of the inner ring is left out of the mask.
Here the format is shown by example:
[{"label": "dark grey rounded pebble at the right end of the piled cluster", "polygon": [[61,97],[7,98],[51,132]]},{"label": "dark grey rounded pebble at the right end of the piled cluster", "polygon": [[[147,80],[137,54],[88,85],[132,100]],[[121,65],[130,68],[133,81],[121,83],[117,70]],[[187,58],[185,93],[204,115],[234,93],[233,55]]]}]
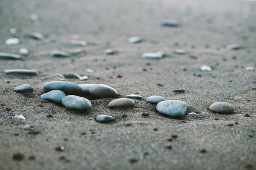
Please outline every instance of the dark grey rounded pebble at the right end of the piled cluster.
[{"label": "dark grey rounded pebble at the right end of the piled cluster", "polygon": [[89,89],[89,94],[93,98],[117,98],[117,90],[103,84],[95,84]]}]

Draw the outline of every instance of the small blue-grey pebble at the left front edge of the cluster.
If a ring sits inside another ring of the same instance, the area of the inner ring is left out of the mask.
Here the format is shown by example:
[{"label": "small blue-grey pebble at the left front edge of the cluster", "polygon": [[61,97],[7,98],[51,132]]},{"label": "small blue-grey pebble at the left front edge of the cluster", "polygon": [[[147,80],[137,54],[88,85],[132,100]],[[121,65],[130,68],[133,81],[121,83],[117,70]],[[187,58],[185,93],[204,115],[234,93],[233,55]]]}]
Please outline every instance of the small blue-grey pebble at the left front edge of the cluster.
[{"label": "small blue-grey pebble at the left front edge of the cluster", "polygon": [[52,90],[41,95],[41,99],[51,100],[56,103],[61,103],[61,100],[67,95],[61,90]]}]

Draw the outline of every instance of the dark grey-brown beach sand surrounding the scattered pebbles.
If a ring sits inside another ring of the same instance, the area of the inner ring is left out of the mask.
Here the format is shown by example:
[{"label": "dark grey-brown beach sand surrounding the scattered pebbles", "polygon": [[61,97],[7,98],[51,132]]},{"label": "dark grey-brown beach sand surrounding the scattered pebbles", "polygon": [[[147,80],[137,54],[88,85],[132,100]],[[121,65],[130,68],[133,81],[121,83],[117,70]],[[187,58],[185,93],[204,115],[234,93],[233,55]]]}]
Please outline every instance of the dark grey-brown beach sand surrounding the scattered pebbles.
[{"label": "dark grey-brown beach sand surrounding the scattered pebbles", "polygon": [[[179,24],[161,26],[164,18]],[[32,39],[31,32],[44,38]],[[136,36],[140,43],[128,43]],[[5,44],[13,37],[18,45]],[[73,46],[71,40],[87,45]],[[230,44],[242,48],[228,50]],[[0,52],[18,54],[20,48],[29,50],[24,60],[0,59],[0,170],[256,169],[256,2],[1,0]],[[104,54],[107,48],[116,53]],[[175,54],[178,48],[186,54]],[[77,49],[82,52],[70,57],[49,56]],[[157,51],[165,56],[141,57]],[[39,74],[4,73],[18,68]],[[135,107],[110,109],[113,98],[89,97],[89,111],[40,98],[45,83],[70,72],[88,76],[66,79],[72,83],[101,83],[115,88],[118,98],[143,98],[133,99]],[[25,83],[34,92],[13,91]],[[145,101],[153,95],[186,102],[185,116],[159,113]],[[209,106],[219,101],[230,103],[234,113],[211,112]],[[26,120],[13,119],[19,114]],[[115,121],[99,123],[101,114]]]}]

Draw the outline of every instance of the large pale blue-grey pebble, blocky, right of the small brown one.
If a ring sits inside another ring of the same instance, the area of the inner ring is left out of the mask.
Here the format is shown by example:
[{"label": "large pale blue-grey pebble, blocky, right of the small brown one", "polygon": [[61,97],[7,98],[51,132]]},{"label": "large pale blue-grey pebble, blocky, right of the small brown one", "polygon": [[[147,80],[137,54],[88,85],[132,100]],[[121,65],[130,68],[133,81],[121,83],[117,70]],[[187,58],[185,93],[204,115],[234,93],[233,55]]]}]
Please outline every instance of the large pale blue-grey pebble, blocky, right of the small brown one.
[{"label": "large pale blue-grey pebble, blocky, right of the small brown one", "polygon": [[165,100],[157,104],[157,111],[173,117],[184,116],[186,109],[187,104],[180,100]]}]

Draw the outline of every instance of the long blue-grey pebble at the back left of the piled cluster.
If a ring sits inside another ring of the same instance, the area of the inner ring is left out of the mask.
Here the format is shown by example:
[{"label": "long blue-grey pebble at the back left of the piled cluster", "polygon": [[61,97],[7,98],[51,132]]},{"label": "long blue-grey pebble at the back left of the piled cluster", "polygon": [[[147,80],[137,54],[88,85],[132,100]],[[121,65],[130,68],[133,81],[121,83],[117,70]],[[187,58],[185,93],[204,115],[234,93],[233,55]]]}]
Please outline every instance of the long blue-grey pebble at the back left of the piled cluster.
[{"label": "long blue-grey pebble at the back left of the piled cluster", "polygon": [[74,95],[83,94],[82,87],[80,87],[79,85],[76,85],[74,83],[67,82],[67,81],[50,81],[48,83],[45,83],[45,85],[43,85],[43,91],[45,93],[49,92],[49,91],[52,91],[52,90],[61,90],[67,95],[69,95],[69,94],[74,94]]}]

